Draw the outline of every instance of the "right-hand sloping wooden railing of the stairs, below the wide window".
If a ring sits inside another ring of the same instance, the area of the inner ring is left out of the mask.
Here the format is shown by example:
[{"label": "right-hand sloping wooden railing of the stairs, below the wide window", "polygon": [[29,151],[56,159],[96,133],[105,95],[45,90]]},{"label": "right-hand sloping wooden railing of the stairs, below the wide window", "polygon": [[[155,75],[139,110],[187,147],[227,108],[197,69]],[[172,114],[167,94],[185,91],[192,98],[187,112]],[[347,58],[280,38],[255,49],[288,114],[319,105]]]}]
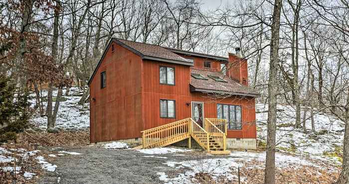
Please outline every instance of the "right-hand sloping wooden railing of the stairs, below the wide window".
[{"label": "right-hand sloping wooden railing of the stairs, below the wide window", "polygon": [[[217,121],[217,119],[205,118],[203,127],[208,132],[209,136],[215,140],[217,145],[219,147],[223,148],[223,151],[225,151],[225,149],[226,149],[226,135],[223,132],[224,129],[223,129],[223,131],[220,130],[215,124],[212,123],[212,121],[221,122],[221,121]],[[220,123],[217,125],[220,125]]]}]

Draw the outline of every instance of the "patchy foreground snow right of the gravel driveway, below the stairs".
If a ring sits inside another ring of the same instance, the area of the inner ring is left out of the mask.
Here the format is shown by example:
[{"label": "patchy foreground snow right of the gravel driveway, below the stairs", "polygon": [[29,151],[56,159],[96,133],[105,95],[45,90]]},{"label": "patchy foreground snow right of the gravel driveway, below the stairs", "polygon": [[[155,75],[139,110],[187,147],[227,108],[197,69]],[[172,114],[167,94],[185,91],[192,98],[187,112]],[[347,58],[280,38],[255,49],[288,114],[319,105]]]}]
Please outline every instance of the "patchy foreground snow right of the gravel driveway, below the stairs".
[{"label": "patchy foreground snow right of the gravel driveway, below the stairs", "polygon": [[[259,168],[264,169],[265,152],[232,152],[229,158],[213,158],[213,159],[199,159],[181,162],[168,161],[163,163],[168,167],[174,168],[178,171],[185,170],[184,173],[179,173],[174,178],[168,178],[164,172],[157,172],[159,180],[167,184],[192,184],[196,183],[193,179],[197,173],[207,173],[213,180],[219,177],[224,177],[227,180],[237,179],[238,167],[243,167],[244,163],[254,162],[250,169]],[[312,162],[306,158],[298,156],[290,156],[282,153],[276,153],[275,164],[277,168],[300,168],[302,166],[312,166],[322,169],[317,163]],[[336,172],[333,170],[333,172]],[[243,181],[244,178],[242,177]]]}]

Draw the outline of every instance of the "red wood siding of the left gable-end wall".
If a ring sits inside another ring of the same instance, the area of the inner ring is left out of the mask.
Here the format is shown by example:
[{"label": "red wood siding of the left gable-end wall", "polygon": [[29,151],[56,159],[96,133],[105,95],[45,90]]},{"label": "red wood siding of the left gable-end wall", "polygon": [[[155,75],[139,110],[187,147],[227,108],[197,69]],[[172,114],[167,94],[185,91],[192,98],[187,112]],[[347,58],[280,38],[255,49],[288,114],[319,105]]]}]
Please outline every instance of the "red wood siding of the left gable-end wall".
[{"label": "red wood siding of the left gable-end wall", "polygon": [[[140,137],[142,120],[142,59],[115,43],[107,51],[90,84],[90,141]],[[107,86],[101,89],[100,73]],[[95,99],[95,100],[93,100]]]}]

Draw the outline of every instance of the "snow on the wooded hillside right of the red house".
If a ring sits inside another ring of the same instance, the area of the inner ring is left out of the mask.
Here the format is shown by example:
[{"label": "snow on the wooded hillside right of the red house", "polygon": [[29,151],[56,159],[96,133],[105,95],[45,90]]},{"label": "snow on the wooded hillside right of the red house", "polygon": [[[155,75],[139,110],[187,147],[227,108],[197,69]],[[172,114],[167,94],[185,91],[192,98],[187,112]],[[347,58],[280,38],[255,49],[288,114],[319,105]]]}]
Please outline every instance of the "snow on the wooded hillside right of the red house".
[{"label": "snow on the wooded hillside right of the red house", "polygon": [[[303,120],[304,107],[301,108],[301,120]],[[277,125],[295,124],[296,111],[293,106],[278,104],[277,109],[279,110]],[[268,110],[267,104],[256,104],[257,136],[264,143],[267,137],[268,112],[264,112],[266,110]],[[314,112],[316,110],[314,109]],[[309,116],[308,111],[307,117]],[[326,156],[326,153],[343,151],[344,122],[324,113],[314,114],[314,122],[317,133],[312,133],[310,118],[306,120],[308,134],[303,133],[303,129],[296,129],[294,126],[279,127],[276,132],[277,149],[341,164],[338,158]]]}]

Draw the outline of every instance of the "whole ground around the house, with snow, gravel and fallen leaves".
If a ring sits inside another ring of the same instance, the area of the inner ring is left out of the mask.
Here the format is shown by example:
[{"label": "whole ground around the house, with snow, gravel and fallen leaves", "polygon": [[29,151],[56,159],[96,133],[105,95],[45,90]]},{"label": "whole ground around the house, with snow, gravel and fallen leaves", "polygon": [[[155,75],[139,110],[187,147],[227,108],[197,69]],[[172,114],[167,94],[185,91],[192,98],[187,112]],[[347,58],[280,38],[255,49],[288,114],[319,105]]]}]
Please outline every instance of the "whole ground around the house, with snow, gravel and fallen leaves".
[{"label": "whole ground around the house, with snow, gravel and fallen leaves", "polygon": [[[53,95],[56,93],[57,90]],[[259,149],[232,150],[230,155],[214,156],[202,150],[174,147],[132,150],[130,147],[136,145],[121,142],[91,146],[89,105],[77,104],[82,93],[74,87],[69,96],[60,99],[56,126],[61,132],[45,132],[47,119],[36,113],[30,120],[36,132],[21,133],[17,143],[0,145],[0,183],[237,183],[238,170],[242,183],[263,183],[265,104],[256,104]],[[45,101],[47,92],[42,94]],[[342,163],[344,123],[329,114],[317,113],[316,132],[311,132],[308,119],[308,133],[304,133],[293,126],[293,106],[278,105],[278,115],[277,183],[334,182]]]}]

